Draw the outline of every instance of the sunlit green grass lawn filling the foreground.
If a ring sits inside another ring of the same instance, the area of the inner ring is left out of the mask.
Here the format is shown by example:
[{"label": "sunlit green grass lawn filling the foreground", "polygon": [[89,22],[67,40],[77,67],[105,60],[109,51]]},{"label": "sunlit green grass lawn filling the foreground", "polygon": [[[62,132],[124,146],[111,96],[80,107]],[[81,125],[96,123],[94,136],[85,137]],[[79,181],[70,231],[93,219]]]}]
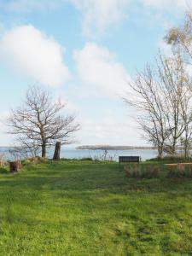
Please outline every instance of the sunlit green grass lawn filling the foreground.
[{"label": "sunlit green grass lawn filling the foreground", "polygon": [[0,255],[192,255],[192,179],[60,161],[0,173]]}]

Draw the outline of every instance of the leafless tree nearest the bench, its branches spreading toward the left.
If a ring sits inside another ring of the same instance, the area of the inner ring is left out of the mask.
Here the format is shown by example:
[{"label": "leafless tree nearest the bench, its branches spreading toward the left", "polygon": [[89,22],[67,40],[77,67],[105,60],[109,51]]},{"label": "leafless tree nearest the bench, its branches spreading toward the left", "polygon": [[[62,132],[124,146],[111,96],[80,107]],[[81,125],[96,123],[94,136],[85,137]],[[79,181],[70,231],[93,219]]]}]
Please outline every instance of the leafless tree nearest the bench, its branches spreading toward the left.
[{"label": "leafless tree nearest the bench, its branches spreading toward the left", "polygon": [[166,138],[166,114],[161,86],[155,81],[156,73],[147,65],[143,72],[137,72],[137,78],[129,83],[125,102],[139,111],[137,123],[144,132],[144,137],[158,148],[159,158],[163,157]]}]

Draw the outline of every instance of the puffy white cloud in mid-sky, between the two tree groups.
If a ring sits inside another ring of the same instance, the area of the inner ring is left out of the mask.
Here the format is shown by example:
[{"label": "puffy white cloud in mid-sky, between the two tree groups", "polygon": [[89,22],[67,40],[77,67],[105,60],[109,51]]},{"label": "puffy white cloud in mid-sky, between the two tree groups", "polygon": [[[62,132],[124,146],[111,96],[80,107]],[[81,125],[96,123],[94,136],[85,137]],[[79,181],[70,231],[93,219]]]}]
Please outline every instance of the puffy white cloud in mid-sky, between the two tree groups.
[{"label": "puffy white cloud in mid-sky, between the two tree groups", "polygon": [[119,96],[124,93],[130,79],[125,68],[115,61],[115,55],[97,44],[87,43],[82,50],[74,51],[74,60],[82,84],[101,95]]}]

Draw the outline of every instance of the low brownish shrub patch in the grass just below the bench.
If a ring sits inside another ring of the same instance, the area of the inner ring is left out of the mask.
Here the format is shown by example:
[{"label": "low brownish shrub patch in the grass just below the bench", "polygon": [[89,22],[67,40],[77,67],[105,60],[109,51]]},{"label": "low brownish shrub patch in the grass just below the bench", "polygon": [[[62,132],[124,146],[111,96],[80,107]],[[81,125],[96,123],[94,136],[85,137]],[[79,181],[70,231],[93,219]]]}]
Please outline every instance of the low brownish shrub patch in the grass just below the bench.
[{"label": "low brownish shrub patch in the grass just below the bench", "polygon": [[160,177],[160,166],[155,165],[133,165],[125,166],[126,177],[157,178]]}]

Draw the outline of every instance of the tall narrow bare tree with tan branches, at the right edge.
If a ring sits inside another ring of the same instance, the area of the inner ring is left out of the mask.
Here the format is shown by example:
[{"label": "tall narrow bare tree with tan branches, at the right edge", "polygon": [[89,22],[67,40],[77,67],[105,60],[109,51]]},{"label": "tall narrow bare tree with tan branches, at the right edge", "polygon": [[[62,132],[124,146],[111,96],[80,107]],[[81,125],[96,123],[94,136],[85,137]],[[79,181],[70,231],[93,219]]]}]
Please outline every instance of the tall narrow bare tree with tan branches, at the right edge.
[{"label": "tall narrow bare tree with tan branches, at the right edge", "polygon": [[169,153],[176,154],[178,139],[191,122],[190,79],[180,55],[173,55],[172,58],[160,56],[158,70],[163,84],[162,94],[165,97],[166,119],[170,131],[166,148],[169,148]]}]

